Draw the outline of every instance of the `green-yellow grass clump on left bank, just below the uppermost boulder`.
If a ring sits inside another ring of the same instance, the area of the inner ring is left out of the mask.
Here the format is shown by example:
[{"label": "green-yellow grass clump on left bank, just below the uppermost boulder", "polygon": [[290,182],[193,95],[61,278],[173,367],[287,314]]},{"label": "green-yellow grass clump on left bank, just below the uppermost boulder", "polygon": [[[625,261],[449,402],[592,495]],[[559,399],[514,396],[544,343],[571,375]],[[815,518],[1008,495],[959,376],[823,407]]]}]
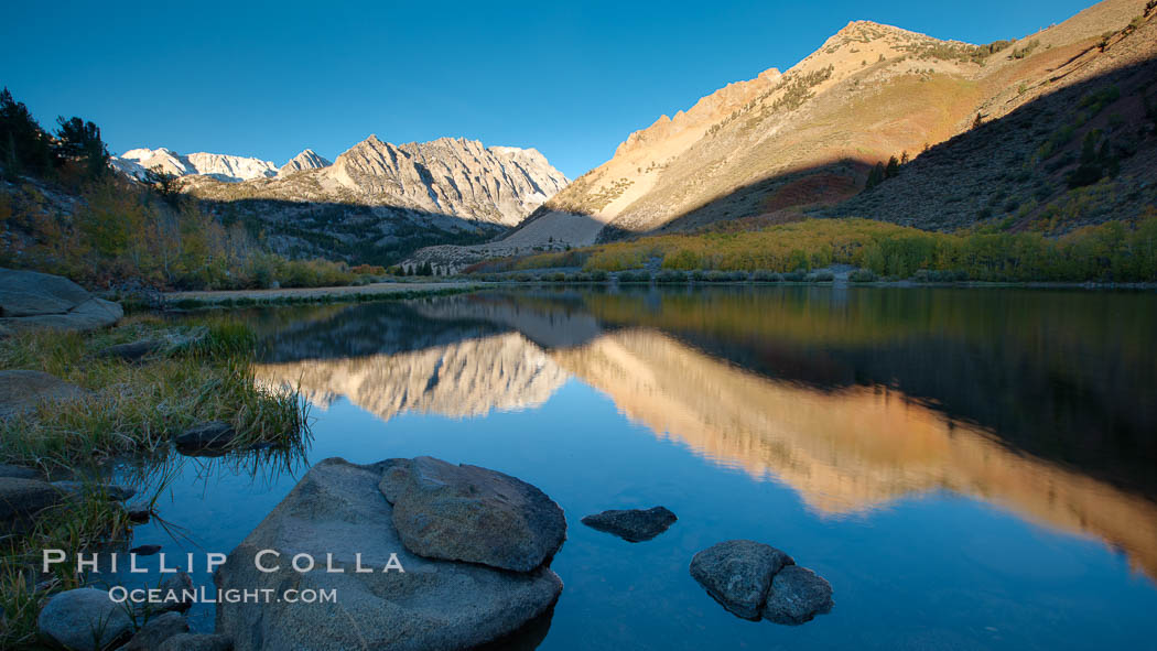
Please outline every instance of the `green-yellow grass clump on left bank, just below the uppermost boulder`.
[{"label": "green-yellow grass clump on left bank, just below the uppermost boulder", "polygon": [[[100,355],[116,343],[177,336],[191,341],[142,364]],[[0,421],[0,459],[74,471],[167,447],[174,432],[209,420],[233,423],[239,444],[296,438],[305,430],[299,397],[253,383],[253,343],[252,332],[236,321],[175,330],[139,320],[98,333],[16,333],[0,341],[0,369],[44,371],[88,393]]]}]

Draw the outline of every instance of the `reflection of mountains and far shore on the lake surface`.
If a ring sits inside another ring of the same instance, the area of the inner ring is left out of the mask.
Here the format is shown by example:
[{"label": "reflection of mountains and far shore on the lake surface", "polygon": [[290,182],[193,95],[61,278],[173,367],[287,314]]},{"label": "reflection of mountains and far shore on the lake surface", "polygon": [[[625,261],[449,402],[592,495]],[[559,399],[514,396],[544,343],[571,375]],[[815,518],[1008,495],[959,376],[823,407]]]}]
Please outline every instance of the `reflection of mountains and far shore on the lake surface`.
[{"label": "reflection of mountains and far shore on the lake surface", "polygon": [[818,513],[950,490],[1098,537],[1157,578],[1151,295],[546,291],[303,315],[256,317],[258,377],[320,406],[478,416],[574,377]]}]

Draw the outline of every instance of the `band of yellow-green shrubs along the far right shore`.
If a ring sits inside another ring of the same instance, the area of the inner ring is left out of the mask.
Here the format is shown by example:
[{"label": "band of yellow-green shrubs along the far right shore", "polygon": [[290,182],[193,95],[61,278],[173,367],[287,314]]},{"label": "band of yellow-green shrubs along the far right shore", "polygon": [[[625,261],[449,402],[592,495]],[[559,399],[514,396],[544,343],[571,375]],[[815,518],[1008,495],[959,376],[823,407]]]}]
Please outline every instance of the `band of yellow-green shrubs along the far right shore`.
[{"label": "band of yellow-green shrubs along the far right shore", "polygon": [[[634,273],[631,269],[658,259],[664,269],[691,271],[697,282],[710,282],[710,272],[780,273],[783,280],[802,281],[809,271],[832,264],[854,265],[880,278],[927,272],[929,282],[1152,282],[1157,209],[1135,221],[1105,222],[1060,237],[1037,231],[946,234],[864,219],[809,219],[750,231],[641,237],[582,251],[587,272]],[[531,256],[518,264],[533,268],[543,261]]]}]

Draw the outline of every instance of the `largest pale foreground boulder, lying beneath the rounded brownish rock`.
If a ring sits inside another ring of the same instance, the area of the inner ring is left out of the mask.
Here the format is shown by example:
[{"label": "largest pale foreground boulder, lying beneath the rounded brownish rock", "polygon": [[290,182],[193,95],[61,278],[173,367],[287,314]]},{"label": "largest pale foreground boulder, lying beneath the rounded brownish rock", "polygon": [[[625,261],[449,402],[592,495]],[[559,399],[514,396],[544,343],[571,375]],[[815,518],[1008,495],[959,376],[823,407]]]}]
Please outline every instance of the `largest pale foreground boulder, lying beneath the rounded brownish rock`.
[{"label": "largest pale foreground boulder, lying beneath the rounded brownish rock", "polygon": [[[216,632],[230,636],[237,651],[455,650],[510,634],[551,608],[562,582],[545,565],[511,572],[410,553],[378,489],[391,465],[315,465],[215,577],[222,590],[336,590],[336,602],[220,602]],[[277,562],[277,571],[257,569],[263,549],[280,554],[263,557],[265,565]],[[295,571],[299,554],[317,567]],[[359,554],[360,567],[371,572],[354,571]],[[326,571],[327,555],[344,572]],[[405,571],[383,571],[397,564]]]}]

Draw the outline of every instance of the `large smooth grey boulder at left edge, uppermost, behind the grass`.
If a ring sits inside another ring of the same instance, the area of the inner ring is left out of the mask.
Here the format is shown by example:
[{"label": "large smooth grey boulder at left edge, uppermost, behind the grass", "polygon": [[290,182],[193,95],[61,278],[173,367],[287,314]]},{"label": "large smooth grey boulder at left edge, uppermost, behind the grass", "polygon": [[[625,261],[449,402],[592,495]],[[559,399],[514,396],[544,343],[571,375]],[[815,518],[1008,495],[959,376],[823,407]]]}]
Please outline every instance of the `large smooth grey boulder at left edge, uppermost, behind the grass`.
[{"label": "large smooth grey boulder at left edge, uppermost, behind the grass", "polygon": [[0,268],[0,332],[93,330],[110,326],[124,315],[120,304],[96,298],[64,276]]}]

